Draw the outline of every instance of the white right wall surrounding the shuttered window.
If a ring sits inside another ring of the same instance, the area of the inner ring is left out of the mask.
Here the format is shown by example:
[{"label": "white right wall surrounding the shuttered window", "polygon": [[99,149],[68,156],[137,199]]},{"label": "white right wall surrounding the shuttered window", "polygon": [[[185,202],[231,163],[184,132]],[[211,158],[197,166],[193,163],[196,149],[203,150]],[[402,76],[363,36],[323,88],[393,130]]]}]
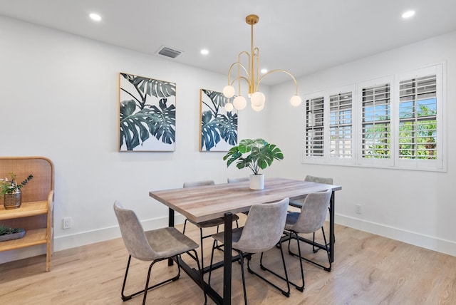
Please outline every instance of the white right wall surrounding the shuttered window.
[{"label": "white right wall surrounding the shuttered window", "polygon": [[[306,94],[338,88],[443,61],[447,64],[447,172],[300,164],[298,146],[302,143],[296,139],[304,139],[304,106],[293,110],[279,104],[273,104],[270,111],[279,123],[271,126],[269,138],[283,148],[285,159],[280,169],[271,170],[299,179],[305,175],[333,177],[334,183],[343,187],[336,194],[339,224],[456,255],[452,189],[456,182],[456,32],[306,76],[299,79],[299,91]],[[279,98],[293,88],[284,83],[271,90]],[[358,204],[362,205],[361,215],[355,213]]]}]

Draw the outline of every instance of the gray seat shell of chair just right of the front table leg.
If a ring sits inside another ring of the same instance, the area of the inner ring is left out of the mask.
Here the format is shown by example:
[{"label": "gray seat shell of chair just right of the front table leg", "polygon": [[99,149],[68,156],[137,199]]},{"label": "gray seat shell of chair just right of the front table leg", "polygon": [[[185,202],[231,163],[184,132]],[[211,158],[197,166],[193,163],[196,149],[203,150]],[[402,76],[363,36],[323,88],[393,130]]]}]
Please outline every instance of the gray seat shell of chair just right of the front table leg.
[{"label": "gray seat shell of chair just right of the front table leg", "polygon": [[242,252],[258,253],[275,247],[284,232],[288,205],[289,198],[274,203],[252,205],[241,237],[238,242],[233,243],[233,248]]}]

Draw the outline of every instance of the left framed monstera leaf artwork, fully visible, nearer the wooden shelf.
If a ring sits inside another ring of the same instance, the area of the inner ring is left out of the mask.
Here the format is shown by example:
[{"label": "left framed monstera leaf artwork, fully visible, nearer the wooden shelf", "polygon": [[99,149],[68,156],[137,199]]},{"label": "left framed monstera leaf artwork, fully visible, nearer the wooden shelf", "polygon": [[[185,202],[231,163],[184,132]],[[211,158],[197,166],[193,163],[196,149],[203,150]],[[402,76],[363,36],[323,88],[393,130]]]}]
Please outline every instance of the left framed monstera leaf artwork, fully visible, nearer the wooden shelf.
[{"label": "left framed monstera leaf artwork, fully visible, nearer the wooden shelf", "polygon": [[176,84],[119,73],[119,150],[174,151]]}]

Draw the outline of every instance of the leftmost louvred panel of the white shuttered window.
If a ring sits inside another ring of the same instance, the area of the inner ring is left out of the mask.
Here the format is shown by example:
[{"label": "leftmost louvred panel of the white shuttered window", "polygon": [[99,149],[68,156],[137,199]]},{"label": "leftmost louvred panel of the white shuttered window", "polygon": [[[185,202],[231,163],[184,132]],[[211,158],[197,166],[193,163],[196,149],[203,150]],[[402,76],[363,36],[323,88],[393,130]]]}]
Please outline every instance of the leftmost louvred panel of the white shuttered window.
[{"label": "leftmost louvred panel of the white shuttered window", "polygon": [[306,156],[323,157],[323,96],[306,100]]}]

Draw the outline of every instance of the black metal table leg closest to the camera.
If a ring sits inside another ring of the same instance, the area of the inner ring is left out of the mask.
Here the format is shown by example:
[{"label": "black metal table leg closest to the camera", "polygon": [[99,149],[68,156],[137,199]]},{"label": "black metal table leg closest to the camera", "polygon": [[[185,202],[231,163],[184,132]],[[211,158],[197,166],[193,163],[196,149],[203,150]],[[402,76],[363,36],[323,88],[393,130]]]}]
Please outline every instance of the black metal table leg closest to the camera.
[{"label": "black metal table leg closest to the camera", "polygon": [[224,219],[223,304],[231,304],[233,214],[225,213]]}]

